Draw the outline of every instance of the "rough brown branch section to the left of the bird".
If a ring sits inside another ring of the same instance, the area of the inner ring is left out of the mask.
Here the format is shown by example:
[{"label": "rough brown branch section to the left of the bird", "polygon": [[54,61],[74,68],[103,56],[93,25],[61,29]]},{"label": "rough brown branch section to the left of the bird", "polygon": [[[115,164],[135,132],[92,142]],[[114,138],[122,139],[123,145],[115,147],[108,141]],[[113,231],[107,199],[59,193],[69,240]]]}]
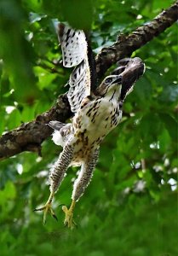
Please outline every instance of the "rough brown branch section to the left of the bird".
[{"label": "rough brown branch section to the left of the bird", "polygon": [[0,160],[23,151],[37,152],[41,155],[41,143],[53,131],[46,124],[50,120],[65,122],[71,115],[66,95],[59,96],[55,106],[49,111],[39,114],[32,122],[24,123],[0,137]]}]

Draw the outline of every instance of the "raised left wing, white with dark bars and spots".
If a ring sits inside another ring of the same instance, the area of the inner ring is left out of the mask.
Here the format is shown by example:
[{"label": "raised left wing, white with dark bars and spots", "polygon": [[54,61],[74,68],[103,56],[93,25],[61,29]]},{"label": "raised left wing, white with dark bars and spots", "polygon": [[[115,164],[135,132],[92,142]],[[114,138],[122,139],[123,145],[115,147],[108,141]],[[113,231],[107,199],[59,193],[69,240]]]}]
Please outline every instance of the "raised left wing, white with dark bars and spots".
[{"label": "raised left wing, white with dark bars and spots", "polygon": [[69,79],[67,97],[72,112],[78,111],[83,98],[90,95],[90,70],[87,41],[83,31],[62,23],[58,26],[64,67],[75,67]]}]

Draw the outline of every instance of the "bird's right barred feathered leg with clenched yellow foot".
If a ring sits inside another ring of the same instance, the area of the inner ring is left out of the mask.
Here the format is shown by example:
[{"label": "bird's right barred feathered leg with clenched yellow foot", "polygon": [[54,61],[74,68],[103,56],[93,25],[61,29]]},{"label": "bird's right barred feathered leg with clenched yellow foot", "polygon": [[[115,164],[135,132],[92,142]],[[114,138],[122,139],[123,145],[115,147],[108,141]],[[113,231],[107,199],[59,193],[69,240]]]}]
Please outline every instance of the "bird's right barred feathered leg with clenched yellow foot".
[{"label": "bird's right barred feathered leg with clenched yellow foot", "polygon": [[71,229],[75,225],[75,222],[73,221],[74,207],[76,205],[76,202],[83,195],[84,190],[89,185],[89,182],[91,180],[93,171],[95,169],[95,166],[98,160],[98,156],[99,156],[99,148],[95,149],[95,152],[93,154],[90,154],[88,160],[83,162],[81,171],[73,186],[71,207],[69,207],[69,209],[67,209],[66,206],[62,207],[63,212],[66,213],[64,224]]}]

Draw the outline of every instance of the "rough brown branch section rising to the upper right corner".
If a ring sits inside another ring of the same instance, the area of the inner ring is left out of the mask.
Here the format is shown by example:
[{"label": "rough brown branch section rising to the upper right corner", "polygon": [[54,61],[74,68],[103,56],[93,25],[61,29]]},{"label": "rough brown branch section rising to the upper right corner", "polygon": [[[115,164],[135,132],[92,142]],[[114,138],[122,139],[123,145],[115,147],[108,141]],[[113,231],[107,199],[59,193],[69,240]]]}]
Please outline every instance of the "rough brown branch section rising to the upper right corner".
[{"label": "rough brown branch section rising to the upper right corner", "polygon": [[125,56],[130,56],[136,49],[158,37],[161,32],[178,20],[178,1],[164,10],[145,26],[138,27],[129,36],[121,35],[111,47],[103,48],[96,56],[96,72],[101,78],[106,70]]}]

